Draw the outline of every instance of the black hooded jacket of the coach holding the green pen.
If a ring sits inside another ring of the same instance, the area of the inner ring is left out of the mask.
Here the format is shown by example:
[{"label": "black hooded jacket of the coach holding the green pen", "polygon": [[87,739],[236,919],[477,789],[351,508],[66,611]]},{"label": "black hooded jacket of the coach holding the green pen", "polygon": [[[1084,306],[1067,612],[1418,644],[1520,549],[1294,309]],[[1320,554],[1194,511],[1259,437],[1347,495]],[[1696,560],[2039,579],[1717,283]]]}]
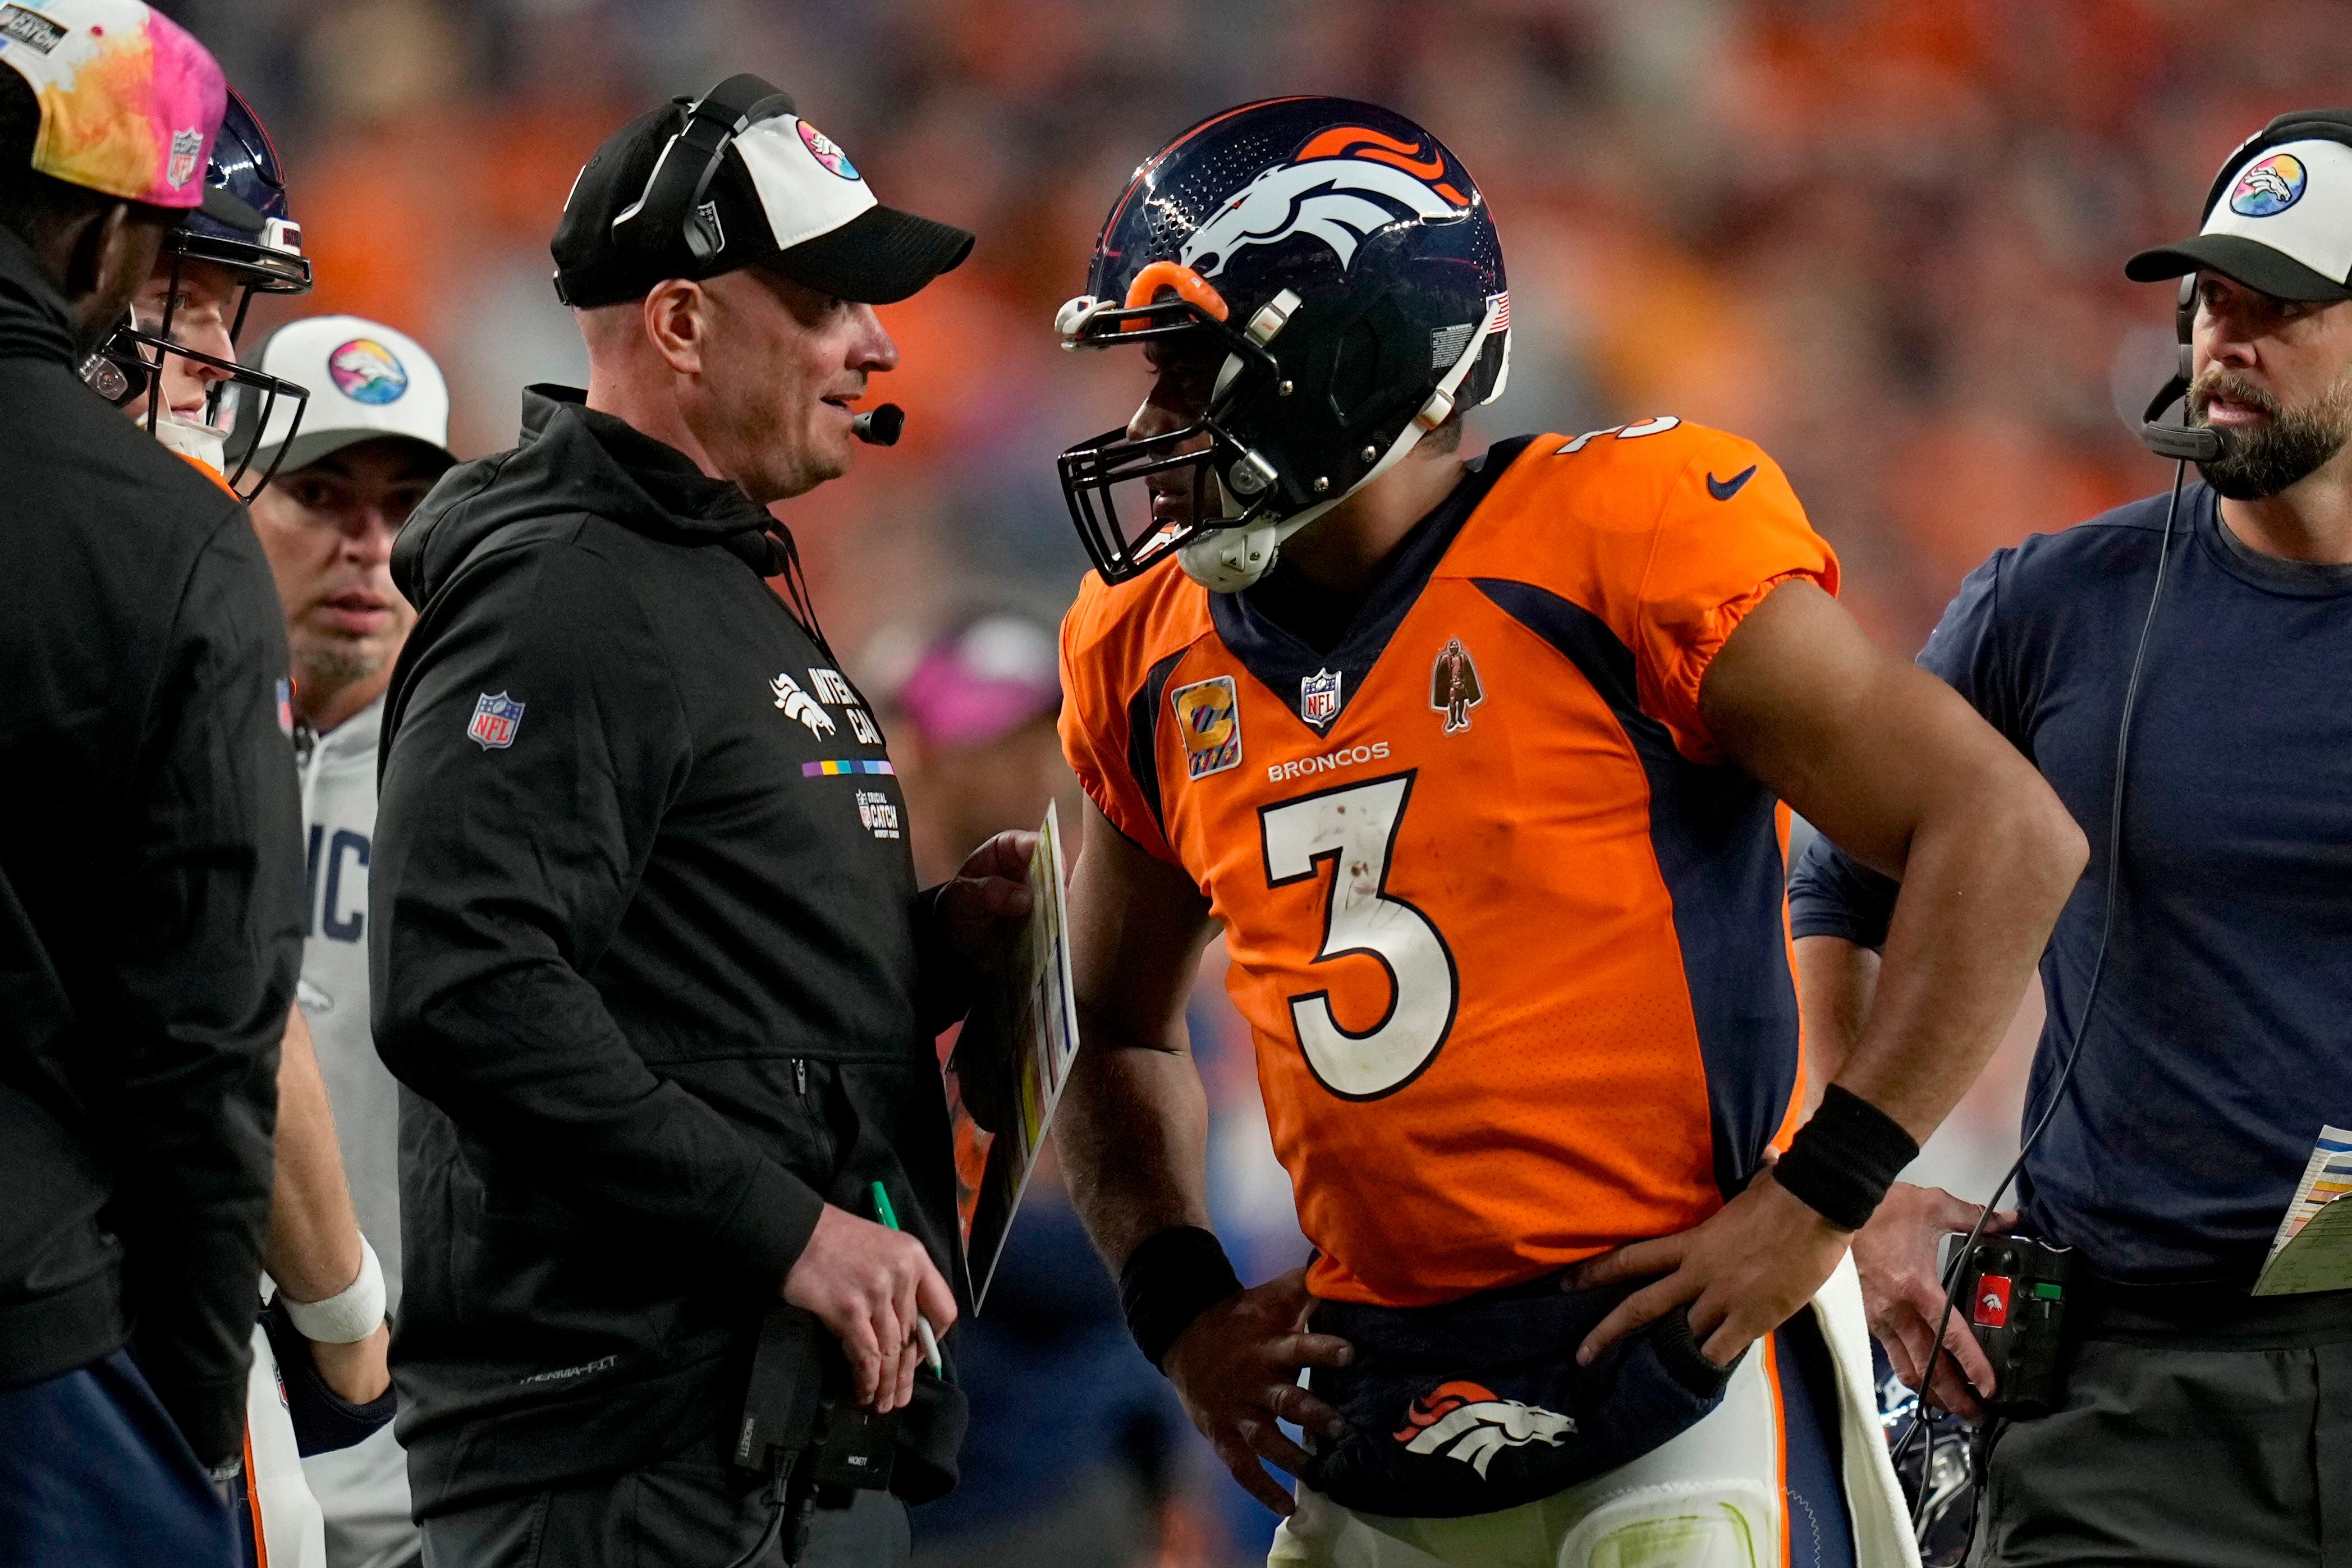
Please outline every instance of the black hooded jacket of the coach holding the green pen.
[{"label": "black hooded jacket of the coach holding the green pen", "polygon": [[762,581],[741,489],[579,393],[532,388],[522,423],[393,550],[421,616],[369,957],[414,1091],[393,1368],[421,1514],[731,1429],[828,1199],[870,1218],[887,1182],[960,1279],[931,1046],[960,1009],[917,1006],[863,698]]}]

